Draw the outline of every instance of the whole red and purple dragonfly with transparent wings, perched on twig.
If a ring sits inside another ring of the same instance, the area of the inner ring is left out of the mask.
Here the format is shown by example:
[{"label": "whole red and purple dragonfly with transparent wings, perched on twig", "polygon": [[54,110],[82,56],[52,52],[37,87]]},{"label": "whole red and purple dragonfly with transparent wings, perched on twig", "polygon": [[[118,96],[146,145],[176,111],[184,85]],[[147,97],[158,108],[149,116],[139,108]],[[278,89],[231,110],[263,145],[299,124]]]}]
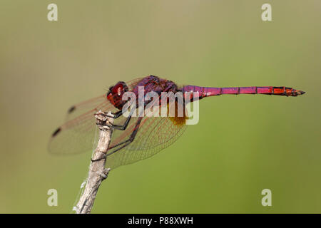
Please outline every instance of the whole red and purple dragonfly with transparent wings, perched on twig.
[{"label": "whole red and purple dragonfly with transparent wings, perched on twig", "polygon": [[[182,93],[183,99],[200,100],[206,97],[225,94],[263,94],[292,96],[305,92],[285,86],[252,86],[232,88],[212,88],[201,86],[178,86],[173,81],[157,76],[136,78],[127,83],[119,81],[111,86],[107,93],[96,98],[86,100],[68,109],[66,123],[63,123],[51,135],[49,152],[54,154],[76,154],[93,150],[98,138],[95,113],[98,111],[113,113],[115,119],[111,144],[108,147],[106,166],[112,170],[121,165],[146,159],[172,145],[183,134],[187,125],[188,113],[184,109],[183,115],[173,116],[133,116],[133,112],[125,116],[123,106],[126,100],[123,95],[132,92],[139,97],[138,88],[143,88],[146,95],[155,92]],[[197,92],[197,93],[196,93]],[[188,96],[187,96],[188,94]],[[197,95],[195,95],[197,94]],[[196,97],[197,96],[197,97]],[[137,100],[138,101],[138,100]],[[145,100],[146,106],[151,100]],[[178,101],[175,100],[177,103]],[[138,106],[134,107],[133,110]]]}]

